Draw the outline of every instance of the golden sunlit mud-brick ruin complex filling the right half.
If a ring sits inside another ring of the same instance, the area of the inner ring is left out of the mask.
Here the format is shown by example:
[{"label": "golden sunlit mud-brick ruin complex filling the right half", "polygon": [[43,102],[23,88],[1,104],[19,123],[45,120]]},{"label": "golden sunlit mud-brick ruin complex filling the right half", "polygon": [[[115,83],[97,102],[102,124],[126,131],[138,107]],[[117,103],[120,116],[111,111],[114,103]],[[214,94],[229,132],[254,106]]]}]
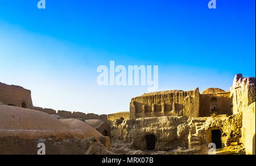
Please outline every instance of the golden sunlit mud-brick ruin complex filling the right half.
[{"label": "golden sunlit mud-brick ruin complex filling the right half", "polygon": [[217,148],[243,144],[246,153],[255,154],[255,77],[237,74],[229,92],[209,88],[200,94],[197,88],[143,94],[131,99],[129,118],[112,123],[111,140],[138,150],[185,147],[176,153],[208,153],[209,143],[215,143]]}]

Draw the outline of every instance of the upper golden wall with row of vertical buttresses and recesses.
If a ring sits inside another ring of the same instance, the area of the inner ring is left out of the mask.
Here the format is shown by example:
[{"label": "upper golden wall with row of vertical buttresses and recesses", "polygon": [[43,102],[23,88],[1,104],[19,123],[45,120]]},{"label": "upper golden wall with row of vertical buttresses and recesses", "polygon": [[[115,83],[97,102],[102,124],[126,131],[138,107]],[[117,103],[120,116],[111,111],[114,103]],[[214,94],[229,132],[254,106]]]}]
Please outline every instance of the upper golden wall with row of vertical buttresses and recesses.
[{"label": "upper golden wall with row of vertical buttresses and recesses", "polygon": [[181,90],[143,94],[131,99],[130,118],[183,115],[199,117],[199,88],[188,92]]}]

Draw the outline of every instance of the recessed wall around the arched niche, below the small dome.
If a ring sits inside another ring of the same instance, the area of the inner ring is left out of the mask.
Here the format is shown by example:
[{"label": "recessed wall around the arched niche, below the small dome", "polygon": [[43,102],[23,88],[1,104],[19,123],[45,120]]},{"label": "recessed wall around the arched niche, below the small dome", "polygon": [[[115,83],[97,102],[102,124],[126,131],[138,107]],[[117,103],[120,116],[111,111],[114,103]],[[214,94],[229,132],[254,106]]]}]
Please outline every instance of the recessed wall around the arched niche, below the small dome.
[{"label": "recessed wall around the arched niche, below the small dome", "polygon": [[200,117],[209,117],[210,114],[210,99],[217,99],[218,114],[232,115],[230,108],[230,92],[217,94],[200,94]]}]

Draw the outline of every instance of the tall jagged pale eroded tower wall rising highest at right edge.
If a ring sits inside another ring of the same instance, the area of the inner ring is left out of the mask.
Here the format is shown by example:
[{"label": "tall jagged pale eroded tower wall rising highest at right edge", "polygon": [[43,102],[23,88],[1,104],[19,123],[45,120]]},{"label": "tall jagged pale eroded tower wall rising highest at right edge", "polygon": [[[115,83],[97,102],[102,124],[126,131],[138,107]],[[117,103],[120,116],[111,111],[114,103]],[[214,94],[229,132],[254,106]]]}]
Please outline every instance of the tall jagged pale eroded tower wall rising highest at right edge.
[{"label": "tall jagged pale eroded tower wall rising highest at right edge", "polygon": [[230,88],[232,113],[237,114],[255,102],[255,77],[234,77],[233,86]]}]

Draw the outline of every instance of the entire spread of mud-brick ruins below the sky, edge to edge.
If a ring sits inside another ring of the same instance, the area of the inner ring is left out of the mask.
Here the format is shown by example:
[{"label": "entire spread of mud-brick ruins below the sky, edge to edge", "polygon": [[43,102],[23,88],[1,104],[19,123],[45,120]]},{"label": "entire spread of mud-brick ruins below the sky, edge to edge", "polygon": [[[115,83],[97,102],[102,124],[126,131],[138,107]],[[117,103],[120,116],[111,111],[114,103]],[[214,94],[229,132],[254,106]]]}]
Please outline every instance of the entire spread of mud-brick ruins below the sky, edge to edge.
[{"label": "entire spread of mud-brick ruins below the sky, edge to edge", "polygon": [[255,77],[230,86],[145,93],[96,115],[35,107],[30,90],[0,82],[0,154],[36,154],[39,142],[47,154],[207,154],[211,143],[255,154]]}]

